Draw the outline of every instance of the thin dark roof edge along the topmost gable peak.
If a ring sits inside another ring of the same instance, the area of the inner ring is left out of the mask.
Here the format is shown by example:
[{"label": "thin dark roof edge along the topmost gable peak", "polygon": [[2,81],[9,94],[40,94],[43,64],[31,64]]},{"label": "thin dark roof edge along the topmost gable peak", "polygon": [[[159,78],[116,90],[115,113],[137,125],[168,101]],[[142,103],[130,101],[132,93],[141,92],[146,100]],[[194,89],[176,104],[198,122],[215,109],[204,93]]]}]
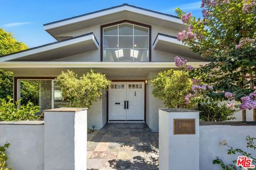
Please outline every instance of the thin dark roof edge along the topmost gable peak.
[{"label": "thin dark roof edge along the topmost gable peak", "polygon": [[82,17],[82,16],[91,15],[91,14],[95,14],[95,13],[99,13],[99,12],[103,12],[103,11],[108,11],[108,10],[112,10],[112,9],[114,9],[114,8],[123,7],[123,6],[129,6],[129,7],[137,8],[137,9],[139,9],[139,10],[144,10],[144,11],[148,11],[148,12],[153,12],[153,13],[157,13],[157,14],[161,14],[161,15],[165,15],[165,16],[170,16],[170,17],[172,17],[172,18],[179,19],[179,17],[178,17],[178,16],[175,16],[175,15],[166,14],[166,13],[162,13],[162,12],[157,12],[157,11],[153,11],[153,10],[148,10],[148,9],[146,9],[146,8],[142,8],[142,7],[138,7],[138,6],[134,6],[134,5],[122,4],[122,5],[118,5],[118,6],[113,6],[113,7],[105,8],[105,9],[99,10],[99,11],[94,11],[94,12],[90,12],[90,13],[86,13],[86,14],[82,14],[82,15],[73,16],[73,17],[71,17],[71,18],[67,18],[67,19],[63,19],[63,20],[58,20],[58,21],[54,21],[54,22],[49,22],[49,23],[43,24],[43,26],[51,25],[51,24],[54,24],[54,23],[59,23],[59,22],[67,21],[67,20],[72,20],[72,19],[76,19],[76,18],[79,18],[79,17]]}]

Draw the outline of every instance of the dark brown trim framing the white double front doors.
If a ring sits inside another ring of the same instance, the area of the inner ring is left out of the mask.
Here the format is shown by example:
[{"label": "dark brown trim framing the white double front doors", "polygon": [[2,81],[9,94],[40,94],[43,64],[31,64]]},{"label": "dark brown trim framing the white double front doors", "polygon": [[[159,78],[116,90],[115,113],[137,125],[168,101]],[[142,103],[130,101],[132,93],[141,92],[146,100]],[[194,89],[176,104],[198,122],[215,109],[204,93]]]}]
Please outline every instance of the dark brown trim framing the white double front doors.
[{"label": "dark brown trim framing the white double front doors", "polygon": [[[146,121],[146,86],[147,84],[145,83],[145,80],[110,80],[111,82],[144,82],[144,122],[147,123]],[[108,90],[107,90],[107,122],[109,122],[109,119],[108,119]],[[113,121],[111,121],[113,122]],[[115,122],[115,121],[114,121]],[[127,121],[122,121],[122,122],[127,122]],[[131,122],[131,121],[129,121]]]}]

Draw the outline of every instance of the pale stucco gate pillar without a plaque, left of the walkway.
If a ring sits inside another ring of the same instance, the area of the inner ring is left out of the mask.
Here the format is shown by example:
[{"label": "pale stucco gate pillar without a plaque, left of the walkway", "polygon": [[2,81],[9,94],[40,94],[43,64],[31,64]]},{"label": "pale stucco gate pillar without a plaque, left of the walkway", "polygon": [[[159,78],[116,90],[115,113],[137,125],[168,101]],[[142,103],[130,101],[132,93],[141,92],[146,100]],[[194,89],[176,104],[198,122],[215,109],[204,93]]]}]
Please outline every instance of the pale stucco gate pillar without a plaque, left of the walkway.
[{"label": "pale stucco gate pillar without a plaque, left of the walkway", "polygon": [[86,169],[87,109],[49,109],[44,122],[44,169]]}]

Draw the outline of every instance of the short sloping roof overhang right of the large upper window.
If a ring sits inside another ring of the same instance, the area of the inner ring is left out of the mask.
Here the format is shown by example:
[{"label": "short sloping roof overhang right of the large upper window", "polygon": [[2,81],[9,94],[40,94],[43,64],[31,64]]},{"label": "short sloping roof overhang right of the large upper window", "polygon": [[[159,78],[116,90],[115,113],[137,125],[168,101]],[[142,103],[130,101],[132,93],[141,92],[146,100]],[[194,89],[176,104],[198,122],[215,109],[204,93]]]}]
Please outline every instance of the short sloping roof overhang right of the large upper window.
[{"label": "short sloping roof overhang right of the large upper window", "polygon": [[172,54],[179,54],[181,56],[194,58],[200,61],[206,61],[201,55],[192,52],[189,49],[189,46],[182,44],[181,41],[178,41],[177,37],[164,35],[163,33],[158,33],[153,43],[153,49]]}]

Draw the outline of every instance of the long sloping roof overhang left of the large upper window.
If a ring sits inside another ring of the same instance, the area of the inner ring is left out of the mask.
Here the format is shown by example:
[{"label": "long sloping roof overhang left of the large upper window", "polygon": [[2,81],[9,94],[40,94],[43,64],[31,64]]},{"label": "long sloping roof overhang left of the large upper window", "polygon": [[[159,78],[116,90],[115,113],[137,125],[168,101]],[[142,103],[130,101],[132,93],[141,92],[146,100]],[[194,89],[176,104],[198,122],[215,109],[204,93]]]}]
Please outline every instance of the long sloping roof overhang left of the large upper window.
[{"label": "long sloping roof overhang left of the large upper window", "polygon": [[17,53],[0,57],[2,61],[51,61],[58,58],[99,49],[99,43],[93,33],[87,33],[43,46],[29,48]]}]

